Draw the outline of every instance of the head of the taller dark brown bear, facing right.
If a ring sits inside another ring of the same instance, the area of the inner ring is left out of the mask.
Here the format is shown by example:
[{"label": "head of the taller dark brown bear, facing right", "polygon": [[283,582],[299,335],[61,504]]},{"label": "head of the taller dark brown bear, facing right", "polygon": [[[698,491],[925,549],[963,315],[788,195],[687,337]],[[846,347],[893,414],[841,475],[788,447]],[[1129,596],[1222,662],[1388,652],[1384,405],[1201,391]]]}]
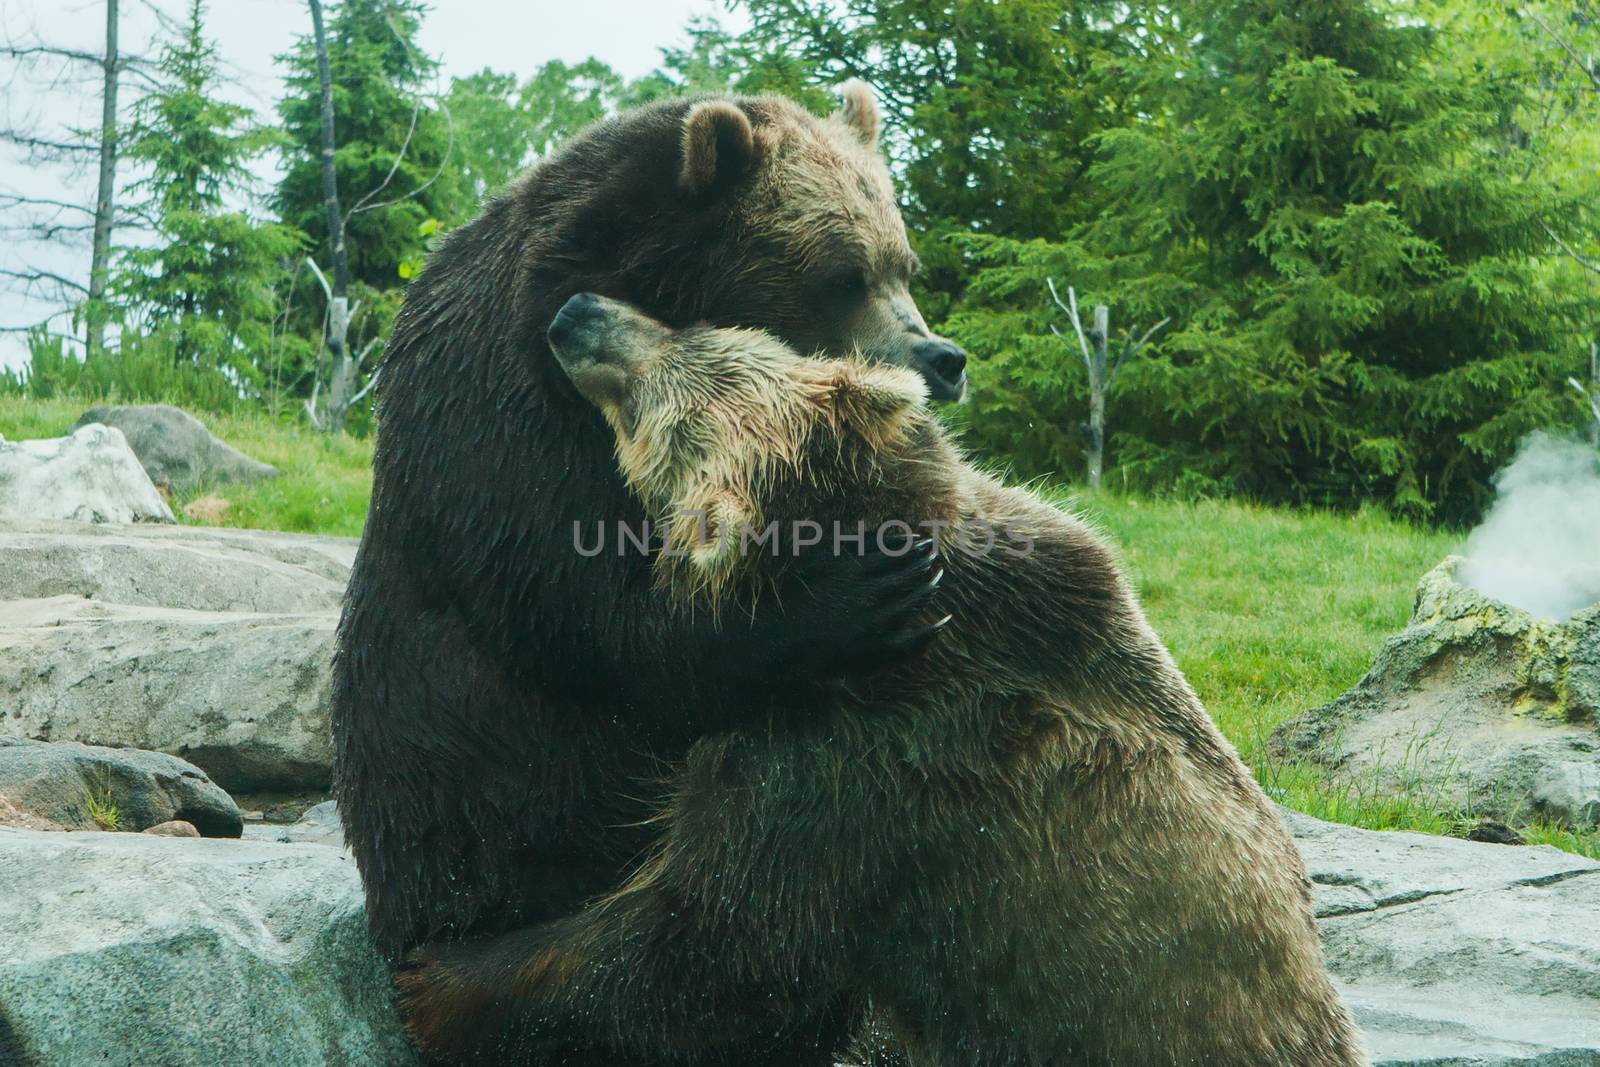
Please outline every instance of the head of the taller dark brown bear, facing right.
[{"label": "head of the taller dark brown bear, facing right", "polygon": [[933,398],[960,398],[966,357],[910,296],[917,258],[877,106],[859,82],[842,99],[821,118],[779,96],[666,101],[574,138],[522,186],[562,234],[534,250],[534,277],[550,278],[536,288],[555,296],[542,314],[603,293],[675,326],[762,328],[805,354],[909,366]]}]

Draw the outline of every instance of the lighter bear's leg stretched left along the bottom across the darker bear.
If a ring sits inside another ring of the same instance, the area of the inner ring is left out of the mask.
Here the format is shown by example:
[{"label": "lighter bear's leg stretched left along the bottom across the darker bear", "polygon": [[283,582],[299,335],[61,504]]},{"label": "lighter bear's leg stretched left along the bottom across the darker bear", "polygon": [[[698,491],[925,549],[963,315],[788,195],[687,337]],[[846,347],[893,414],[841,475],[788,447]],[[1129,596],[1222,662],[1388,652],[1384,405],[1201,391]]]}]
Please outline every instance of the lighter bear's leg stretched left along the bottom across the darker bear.
[{"label": "lighter bear's leg stretched left along the bottom across the darker bear", "polygon": [[[395,974],[406,1027],[446,1064],[829,1067],[856,1013],[821,981],[752,973],[728,939],[627,928],[630,901],[459,944]],[[794,963],[794,960],[790,960]]]}]

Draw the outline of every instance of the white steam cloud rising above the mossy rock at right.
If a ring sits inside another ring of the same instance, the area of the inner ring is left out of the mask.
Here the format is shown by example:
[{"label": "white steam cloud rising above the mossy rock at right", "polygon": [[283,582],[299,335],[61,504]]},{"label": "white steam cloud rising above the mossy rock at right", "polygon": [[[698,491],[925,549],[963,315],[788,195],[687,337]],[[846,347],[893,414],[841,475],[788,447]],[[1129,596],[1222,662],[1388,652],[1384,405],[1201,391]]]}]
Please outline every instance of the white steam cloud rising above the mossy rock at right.
[{"label": "white steam cloud rising above the mossy rock at right", "polygon": [[1494,475],[1498,496],[1467,537],[1459,577],[1536,616],[1565,619],[1600,601],[1600,458],[1534,434]]}]

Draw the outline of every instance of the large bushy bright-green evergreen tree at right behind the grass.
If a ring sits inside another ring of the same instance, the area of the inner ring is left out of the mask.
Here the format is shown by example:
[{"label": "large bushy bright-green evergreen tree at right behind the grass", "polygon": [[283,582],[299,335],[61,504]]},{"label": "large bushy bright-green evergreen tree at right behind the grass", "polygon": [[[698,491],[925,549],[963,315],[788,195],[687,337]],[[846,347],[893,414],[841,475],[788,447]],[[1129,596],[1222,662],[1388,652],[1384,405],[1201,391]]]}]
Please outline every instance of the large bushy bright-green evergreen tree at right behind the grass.
[{"label": "large bushy bright-green evergreen tree at right behind the grass", "polygon": [[1467,75],[1392,5],[1173,6],[1184,43],[1146,67],[1149,118],[1096,138],[1091,216],[1067,240],[968,242],[990,306],[957,331],[1019,394],[973,414],[979,440],[1082,418],[1070,365],[1046,371],[1054,274],[1125,322],[1178,323],[1122,379],[1136,474],[1472,515],[1515,442],[1570,413],[1582,307],[1552,235],[1581,237],[1592,187],[1507,141],[1526,85]]}]

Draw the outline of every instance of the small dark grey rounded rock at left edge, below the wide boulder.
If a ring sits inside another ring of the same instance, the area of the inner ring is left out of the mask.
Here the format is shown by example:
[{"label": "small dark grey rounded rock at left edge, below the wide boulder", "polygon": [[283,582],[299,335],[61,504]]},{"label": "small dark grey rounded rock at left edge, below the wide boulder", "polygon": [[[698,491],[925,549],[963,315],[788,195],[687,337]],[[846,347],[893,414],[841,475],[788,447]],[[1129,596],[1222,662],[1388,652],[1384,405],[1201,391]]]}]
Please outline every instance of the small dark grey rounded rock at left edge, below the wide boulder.
[{"label": "small dark grey rounded rock at left edge, below the wide boulder", "polygon": [[238,837],[243,817],[205,771],[163,752],[0,737],[0,797],[74,830],[99,829],[91,801],[115,808],[117,825],[144,830],[192,822],[205,837]]}]

